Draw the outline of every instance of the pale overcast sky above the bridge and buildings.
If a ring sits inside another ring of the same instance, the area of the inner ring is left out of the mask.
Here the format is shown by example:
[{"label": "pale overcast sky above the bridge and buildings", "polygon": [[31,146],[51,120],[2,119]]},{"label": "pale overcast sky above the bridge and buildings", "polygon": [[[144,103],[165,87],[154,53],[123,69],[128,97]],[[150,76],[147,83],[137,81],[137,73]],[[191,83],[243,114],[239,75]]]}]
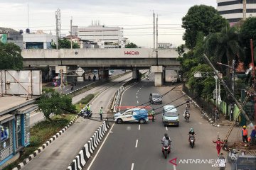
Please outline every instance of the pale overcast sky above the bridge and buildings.
[{"label": "pale overcast sky above the bridge and buildings", "polygon": [[68,35],[73,16],[73,26],[90,26],[95,20],[105,26],[122,26],[131,42],[153,47],[154,10],[159,15],[159,42],[177,46],[183,43],[181,18],[191,6],[200,4],[217,6],[215,0],[8,0],[0,1],[0,27],[25,30],[29,9],[31,30],[55,34],[55,11],[60,8],[62,34]]}]

